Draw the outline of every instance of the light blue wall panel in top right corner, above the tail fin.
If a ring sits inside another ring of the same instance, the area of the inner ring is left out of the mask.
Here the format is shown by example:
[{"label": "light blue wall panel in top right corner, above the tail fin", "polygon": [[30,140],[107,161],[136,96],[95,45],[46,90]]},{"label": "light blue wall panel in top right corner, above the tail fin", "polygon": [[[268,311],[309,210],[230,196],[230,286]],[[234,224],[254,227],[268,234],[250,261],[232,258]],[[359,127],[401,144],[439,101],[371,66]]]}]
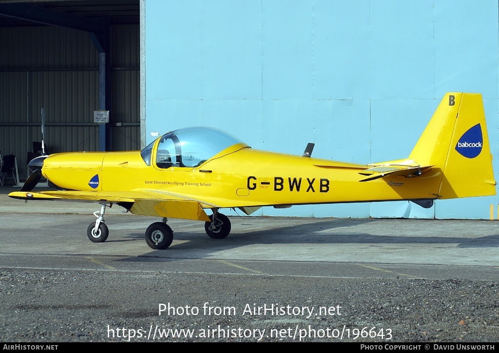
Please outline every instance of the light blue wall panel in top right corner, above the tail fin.
[{"label": "light blue wall panel in top right corner, above the tail fin", "polygon": [[499,95],[498,1],[435,0],[435,94]]}]

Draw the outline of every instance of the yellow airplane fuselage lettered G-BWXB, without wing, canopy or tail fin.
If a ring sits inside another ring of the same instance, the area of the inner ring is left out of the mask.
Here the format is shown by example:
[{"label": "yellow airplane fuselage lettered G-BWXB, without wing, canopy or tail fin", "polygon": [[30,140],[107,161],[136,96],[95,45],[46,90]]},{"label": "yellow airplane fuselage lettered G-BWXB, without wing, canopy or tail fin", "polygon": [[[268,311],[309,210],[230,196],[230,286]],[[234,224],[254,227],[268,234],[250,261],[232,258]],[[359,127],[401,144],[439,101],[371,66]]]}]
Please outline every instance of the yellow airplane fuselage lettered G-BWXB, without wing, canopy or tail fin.
[{"label": "yellow airplane fuselage lettered G-BWXB, without wing, canopy or tail fin", "polygon": [[[154,155],[152,160],[154,161]],[[441,170],[359,182],[365,165],[258,151],[244,144],[196,168],[147,166],[139,151],[52,155],[42,174],[65,189],[172,193],[214,207],[436,198]],[[98,176],[92,187],[89,180]],[[126,192],[125,192],[126,193]]]}]

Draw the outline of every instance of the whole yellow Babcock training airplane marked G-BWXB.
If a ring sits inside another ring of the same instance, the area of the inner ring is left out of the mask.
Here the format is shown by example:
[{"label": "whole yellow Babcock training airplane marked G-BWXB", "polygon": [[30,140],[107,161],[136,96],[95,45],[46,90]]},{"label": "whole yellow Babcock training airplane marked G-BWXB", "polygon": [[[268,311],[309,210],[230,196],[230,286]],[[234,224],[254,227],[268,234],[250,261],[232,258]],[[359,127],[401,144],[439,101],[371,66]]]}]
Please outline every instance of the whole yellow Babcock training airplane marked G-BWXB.
[{"label": "whole yellow Babcock training airplane marked G-BWXB", "polygon": [[[163,217],[145,236],[151,248],[166,249],[173,241],[170,217],[205,221],[210,237],[227,237],[231,222],[221,208],[250,214],[261,206],[388,200],[428,208],[435,199],[496,194],[480,94],[447,93],[407,159],[359,165],[311,158],[312,149],[302,156],[258,151],[220,130],[180,129],[140,152],[37,157],[29,164],[36,170],[9,196],[100,203],[87,229],[93,242],[107,239],[104,212],[113,203]],[[32,192],[41,176],[60,190]]]}]

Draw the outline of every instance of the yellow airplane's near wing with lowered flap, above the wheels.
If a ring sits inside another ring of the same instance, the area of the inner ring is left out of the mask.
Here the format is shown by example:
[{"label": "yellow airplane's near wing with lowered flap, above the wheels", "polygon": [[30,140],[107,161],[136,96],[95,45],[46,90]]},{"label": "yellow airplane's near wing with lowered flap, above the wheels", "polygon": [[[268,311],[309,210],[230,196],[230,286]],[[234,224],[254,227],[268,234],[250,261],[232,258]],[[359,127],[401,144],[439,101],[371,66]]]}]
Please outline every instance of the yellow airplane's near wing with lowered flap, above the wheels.
[{"label": "yellow airplane's near wing with lowered flap, above the wheels", "polygon": [[156,190],[100,192],[100,191],[41,191],[9,193],[23,200],[82,200],[111,202],[125,207],[134,214],[210,221],[203,208],[219,207],[181,195]]}]

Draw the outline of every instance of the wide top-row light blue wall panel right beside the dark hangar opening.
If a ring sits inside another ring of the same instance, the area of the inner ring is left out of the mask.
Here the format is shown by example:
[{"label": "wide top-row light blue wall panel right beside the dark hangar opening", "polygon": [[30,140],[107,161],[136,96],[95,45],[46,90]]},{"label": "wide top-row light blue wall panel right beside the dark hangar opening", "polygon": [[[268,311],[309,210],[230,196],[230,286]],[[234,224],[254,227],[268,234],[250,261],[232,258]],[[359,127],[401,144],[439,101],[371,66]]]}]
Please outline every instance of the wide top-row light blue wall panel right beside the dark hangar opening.
[{"label": "wide top-row light blue wall panel right beside the dark hangar opening", "polygon": [[147,99],[260,98],[260,16],[259,1],[147,0]]}]

